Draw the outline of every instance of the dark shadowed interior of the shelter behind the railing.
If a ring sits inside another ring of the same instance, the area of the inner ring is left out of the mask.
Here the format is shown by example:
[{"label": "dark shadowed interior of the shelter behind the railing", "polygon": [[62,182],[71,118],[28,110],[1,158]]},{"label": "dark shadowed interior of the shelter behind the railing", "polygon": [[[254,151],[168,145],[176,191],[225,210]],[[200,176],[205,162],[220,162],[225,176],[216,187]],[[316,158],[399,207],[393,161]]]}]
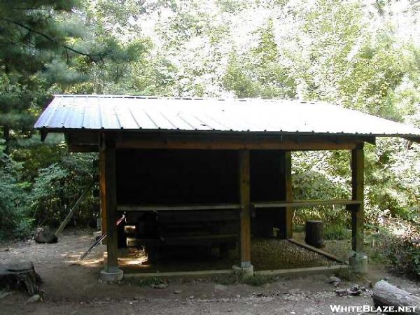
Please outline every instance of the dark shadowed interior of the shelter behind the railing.
[{"label": "dark shadowed interior of the shelter behind the railing", "polygon": [[[284,151],[251,151],[251,202],[285,200],[284,157]],[[188,252],[195,258],[200,253],[226,258],[237,248],[237,209],[223,209],[240,204],[237,151],[121,149],[116,171],[117,202],[130,205],[127,227],[118,230],[120,247],[144,246],[152,261],[169,253],[190,258]],[[218,209],[159,211],[192,204],[218,204]],[[155,209],[141,210],[148,205]],[[251,217],[252,235],[286,237],[285,208],[260,209]]]}]

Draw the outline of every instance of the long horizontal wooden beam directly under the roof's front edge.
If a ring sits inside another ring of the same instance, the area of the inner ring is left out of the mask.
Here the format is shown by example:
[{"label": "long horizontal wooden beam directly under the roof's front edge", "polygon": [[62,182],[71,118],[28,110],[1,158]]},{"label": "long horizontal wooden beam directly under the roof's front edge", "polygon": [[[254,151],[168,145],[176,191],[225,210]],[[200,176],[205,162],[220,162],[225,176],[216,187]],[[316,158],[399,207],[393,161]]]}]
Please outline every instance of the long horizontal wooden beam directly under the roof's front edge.
[{"label": "long horizontal wooden beam directly under the roof's front edge", "polygon": [[[110,132],[108,132],[110,133]],[[218,149],[218,150],[351,150],[374,137],[346,135],[266,134],[266,133],[135,133],[115,132],[116,148]],[[66,141],[72,152],[94,152],[99,147],[99,132],[69,132]]]}]

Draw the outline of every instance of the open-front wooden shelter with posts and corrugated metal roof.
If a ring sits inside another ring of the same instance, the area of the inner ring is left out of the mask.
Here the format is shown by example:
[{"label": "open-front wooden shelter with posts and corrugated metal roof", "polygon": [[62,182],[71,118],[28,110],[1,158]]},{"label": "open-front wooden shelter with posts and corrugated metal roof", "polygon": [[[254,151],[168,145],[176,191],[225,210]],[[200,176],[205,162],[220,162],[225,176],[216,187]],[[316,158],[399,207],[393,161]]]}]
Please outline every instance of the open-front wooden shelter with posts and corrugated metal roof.
[{"label": "open-front wooden shelter with posts and corrugated metal roof", "polygon": [[[223,251],[238,239],[239,269],[252,272],[251,232],[275,228],[290,238],[293,208],[330,204],[351,212],[357,265],[364,257],[363,145],[376,137],[420,139],[419,129],[339,106],[261,99],[56,95],[35,127],[41,139],[64,132],[72,152],[99,152],[103,273],[111,279],[122,276],[118,247],[127,244]],[[291,152],[315,150],[351,151],[350,200],[292,199]],[[141,230],[134,237],[118,232],[120,211]]]}]

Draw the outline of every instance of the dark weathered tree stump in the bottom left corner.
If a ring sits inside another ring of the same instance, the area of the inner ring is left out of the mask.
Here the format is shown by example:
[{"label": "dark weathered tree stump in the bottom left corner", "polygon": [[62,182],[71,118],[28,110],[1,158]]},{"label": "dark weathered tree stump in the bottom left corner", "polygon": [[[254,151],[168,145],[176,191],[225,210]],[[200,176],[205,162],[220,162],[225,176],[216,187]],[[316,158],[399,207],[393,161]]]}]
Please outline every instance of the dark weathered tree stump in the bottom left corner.
[{"label": "dark weathered tree stump in the bottom left corner", "polygon": [[29,295],[38,293],[41,277],[32,262],[0,265],[0,288],[26,290]]}]

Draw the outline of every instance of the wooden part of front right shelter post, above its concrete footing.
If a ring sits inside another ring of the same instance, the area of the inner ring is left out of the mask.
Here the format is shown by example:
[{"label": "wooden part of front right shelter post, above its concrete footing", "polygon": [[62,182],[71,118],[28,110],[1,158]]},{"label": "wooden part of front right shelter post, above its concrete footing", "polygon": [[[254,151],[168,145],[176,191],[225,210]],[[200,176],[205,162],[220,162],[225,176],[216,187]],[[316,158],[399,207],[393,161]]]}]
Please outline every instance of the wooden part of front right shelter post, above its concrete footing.
[{"label": "wooden part of front right shelter post, above its concrete footing", "polygon": [[356,253],[363,253],[364,169],[365,155],[363,146],[359,146],[351,151],[352,198],[358,204],[349,206],[351,210],[351,249]]}]

